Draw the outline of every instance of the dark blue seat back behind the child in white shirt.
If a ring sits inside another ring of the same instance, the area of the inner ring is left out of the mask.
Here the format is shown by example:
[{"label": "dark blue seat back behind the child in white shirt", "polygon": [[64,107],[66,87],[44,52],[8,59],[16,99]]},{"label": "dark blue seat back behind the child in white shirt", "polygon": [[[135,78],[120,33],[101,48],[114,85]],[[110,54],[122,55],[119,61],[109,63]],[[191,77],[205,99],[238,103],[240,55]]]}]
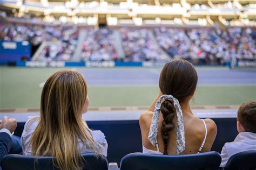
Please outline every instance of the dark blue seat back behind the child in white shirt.
[{"label": "dark blue seat back behind the child in white shirt", "polygon": [[244,151],[232,155],[228,159],[225,170],[255,170],[256,151]]}]

